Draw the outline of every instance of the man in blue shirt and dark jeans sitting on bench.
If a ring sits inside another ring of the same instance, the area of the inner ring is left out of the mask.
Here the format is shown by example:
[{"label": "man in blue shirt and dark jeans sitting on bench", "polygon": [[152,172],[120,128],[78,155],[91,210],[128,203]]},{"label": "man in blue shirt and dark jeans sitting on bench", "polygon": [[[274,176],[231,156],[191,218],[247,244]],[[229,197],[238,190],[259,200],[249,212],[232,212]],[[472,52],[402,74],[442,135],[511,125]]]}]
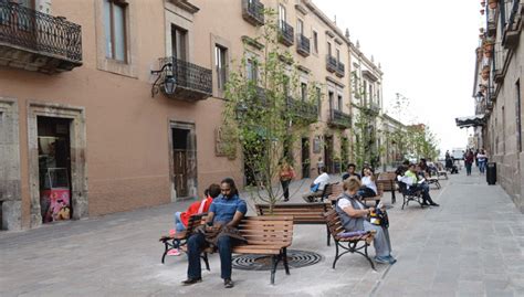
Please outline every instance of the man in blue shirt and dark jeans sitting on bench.
[{"label": "man in blue shirt and dark jeans sitting on bench", "polygon": [[[206,218],[206,234],[197,232],[188,240],[188,278],[184,285],[192,285],[202,282],[202,269],[200,267],[200,252],[208,243],[208,234],[214,234],[213,244],[220,254],[221,277],[226,288],[234,286],[231,280],[232,271],[232,245],[241,237],[237,225],[248,212],[245,201],[240,199],[239,191],[233,179],[227,178],[220,183],[221,194],[213,200]],[[240,236],[240,235],[239,235]]]}]

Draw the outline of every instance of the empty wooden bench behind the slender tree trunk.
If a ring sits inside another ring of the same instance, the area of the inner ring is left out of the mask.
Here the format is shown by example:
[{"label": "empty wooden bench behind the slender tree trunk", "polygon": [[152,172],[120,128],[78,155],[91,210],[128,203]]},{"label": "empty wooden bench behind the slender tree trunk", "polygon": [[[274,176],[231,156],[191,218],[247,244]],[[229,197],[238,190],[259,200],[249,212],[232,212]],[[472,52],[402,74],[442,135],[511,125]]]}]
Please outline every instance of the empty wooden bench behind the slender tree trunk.
[{"label": "empty wooden bench behind the slender tree trunk", "polygon": [[[284,215],[293,216],[294,224],[326,224],[324,213],[331,210],[331,205],[324,202],[312,203],[283,203],[273,205],[271,213],[269,204],[255,204],[258,215]],[[329,230],[326,229],[327,245],[331,244]]]}]

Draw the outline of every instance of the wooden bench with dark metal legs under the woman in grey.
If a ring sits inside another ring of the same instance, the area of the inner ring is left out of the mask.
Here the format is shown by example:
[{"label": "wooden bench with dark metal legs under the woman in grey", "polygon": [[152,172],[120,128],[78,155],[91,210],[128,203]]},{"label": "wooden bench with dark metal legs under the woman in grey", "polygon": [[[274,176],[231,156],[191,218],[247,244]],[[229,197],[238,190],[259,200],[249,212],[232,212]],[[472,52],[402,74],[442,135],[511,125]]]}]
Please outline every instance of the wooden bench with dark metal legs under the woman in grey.
[{"label": "wooden bench with dark metal legs under the woman in grey", "polygon": [[[367,254],[367,248],[371,244],[375,236],[374,233],[367,233],[354,237],[342,237],[338,234],[340,232],[345,232],[345,230],[342,226],[342,221],[338,216],[338,213],[335,210],[331,210],[326,212],[324,216],[326,218],[326,224],[329,233],[335,241],[335,259],[333,261],[333,269],[335,269],[336,262],[347,253],[357,253],[363,255],[369,262],[371,268],[375,269],[375,264]],[[347,246],[345,244],[347,244]],[[339,253],[339,248],[344,250],[344,252]],[[361,250],[364,250],[364,253]]]}]

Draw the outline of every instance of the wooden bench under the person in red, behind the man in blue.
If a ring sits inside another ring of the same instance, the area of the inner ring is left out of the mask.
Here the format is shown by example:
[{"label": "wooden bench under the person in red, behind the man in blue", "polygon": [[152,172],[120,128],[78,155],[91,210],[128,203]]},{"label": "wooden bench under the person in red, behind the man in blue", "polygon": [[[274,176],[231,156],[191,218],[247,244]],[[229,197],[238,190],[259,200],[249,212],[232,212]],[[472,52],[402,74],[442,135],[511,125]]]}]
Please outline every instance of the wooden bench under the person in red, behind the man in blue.
[{"label": "wooden bench under the person in red, behind the man in blue", "polygon": [[[161,264],[164,264],[166,259],[166,255],[169,251],[174,248],[181,250],[182,246],[187,244],[189,236],[195,232],[195,229],[203,224],[206,221],[207,213],[193,214],[189,216],[188,225],[185,231],[175,233],[174,236],[167,235],[161,236],[159,242],[164,243],[164,254],[161,255]],[[209,271],[209,261],[208,261],[208,253],[202,253],[201,258],[206,264],[206,269]]]}]

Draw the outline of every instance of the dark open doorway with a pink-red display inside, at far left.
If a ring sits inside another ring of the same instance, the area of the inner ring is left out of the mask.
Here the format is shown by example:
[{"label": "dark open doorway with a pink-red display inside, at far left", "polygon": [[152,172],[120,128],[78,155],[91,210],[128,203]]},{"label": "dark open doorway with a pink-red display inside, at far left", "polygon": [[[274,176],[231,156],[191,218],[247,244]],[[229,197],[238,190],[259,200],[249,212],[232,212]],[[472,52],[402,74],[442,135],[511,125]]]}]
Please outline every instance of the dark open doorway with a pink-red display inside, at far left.
[{"label": "dark open doorway with a pink-red display inside, at far left", "polygon": [[42,223],[70,220],[71,119],[36,117],[39,190]]}]

